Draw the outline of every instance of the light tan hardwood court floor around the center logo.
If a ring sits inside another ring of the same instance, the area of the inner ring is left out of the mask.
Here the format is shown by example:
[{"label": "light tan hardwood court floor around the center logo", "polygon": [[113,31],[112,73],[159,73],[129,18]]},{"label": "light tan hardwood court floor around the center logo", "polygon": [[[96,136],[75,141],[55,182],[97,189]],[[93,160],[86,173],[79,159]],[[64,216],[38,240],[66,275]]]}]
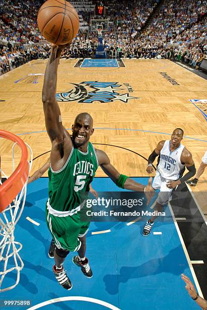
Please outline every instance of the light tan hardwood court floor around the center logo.
[{"label": "light tan hardwood court floor around the center logo", "polygon": [[[112,102],[59,102],[67,129],[71,128],[77,113],[89,112],[95,128],[91,142],[114,145],[97,144],[96,147],[109,154],[120,172],[147,176],[146,161],[131,151],[148,158],[160,140],[170,139],[173,129],[181,127],[185,135],[183,144],[192,152],[198,168],[207,149],[206,120],[189,99],[207,99],[207,81],[169,60],[124,59],[126,67],[120,68],[78,68],[74,67],[76,62],[76,59],[61,59],[57,93],[77,90],[77,85],[71,83],[117,82],[117,87],[105,90],[103,85],[96,84],[94,89],[91,83],[83,84],[93,93],[108,91],[112,94]],[[21,134],[20,137],[32,147],[33,157],[50,150],[41,102],[43,75],[29,75],[43,74],[46,63],[47,60],[34,60],[0,77],[0,100],[5,100],[0,102],[0,128]],[[137,99],[128,97],[125,102],[127,96]],[[106,99],[106,93],[102,97]],[[97,99],[97,95],[94,98]],[[9,145],[1,139],[2,168],[7,173],[11,172]],[[32,172],[47,158],[48,154],[45,154],[36,159]],[[96,175],[104,174],[98,168]],[[207,171],[193,190],[205,190],[206,181]],[[207,210],[206,200],[203,200],[202,208]]]}]

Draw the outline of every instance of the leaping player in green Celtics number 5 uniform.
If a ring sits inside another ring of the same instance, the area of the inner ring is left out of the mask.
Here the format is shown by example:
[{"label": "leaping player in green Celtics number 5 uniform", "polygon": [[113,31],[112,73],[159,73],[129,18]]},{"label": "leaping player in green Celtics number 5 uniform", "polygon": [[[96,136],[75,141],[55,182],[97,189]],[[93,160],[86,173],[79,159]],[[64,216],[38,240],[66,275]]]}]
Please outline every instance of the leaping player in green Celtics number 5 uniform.
[{"label": "leaping player in green Celtics number 5 uniform", "polygon": [[107,154],[94,149],[89,142],[93,134],[93,119],[88,113],[80,113],[72,126],[72,137],[63,127],[61,111],[56,100],[57,71],[62,50],[66,46],[51,45],[51,52],[44,74],[42,102],[45,125],[51,140],[49,198],[46,203],[47,226],[56,243],[53,272],[59,284],[70,290],[72,283],[63,267],[70,251],[78,251],[73,262],[83,274],[91,278],[92,270],[85,257],[86,233],[89,222],[81,222],[84,210],[82,196],[89,191],[89,184],[98,165],[122,188],[145,191],[147,200],[154,193],[151,178],[145,187],[122,175],[110,163]]}]

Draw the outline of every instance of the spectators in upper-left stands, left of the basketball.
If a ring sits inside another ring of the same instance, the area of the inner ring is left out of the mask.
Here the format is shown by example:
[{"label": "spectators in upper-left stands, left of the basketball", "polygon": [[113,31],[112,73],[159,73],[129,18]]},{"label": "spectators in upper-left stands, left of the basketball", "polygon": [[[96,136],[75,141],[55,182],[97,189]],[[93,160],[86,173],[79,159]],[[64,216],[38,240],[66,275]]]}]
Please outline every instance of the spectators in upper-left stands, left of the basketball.
[{"label": "spectators in upper-left stands, left of the basketball", "polygon": [[[0,72],[9,71],[40,53],[45,55],[42,50],[37,53],[37,46],[32,47],[43,39],[36,24],[36,15],[42,4],[41,0],[1,0]],[[24,44],[28,44],[30,48],[25,50]]]}]

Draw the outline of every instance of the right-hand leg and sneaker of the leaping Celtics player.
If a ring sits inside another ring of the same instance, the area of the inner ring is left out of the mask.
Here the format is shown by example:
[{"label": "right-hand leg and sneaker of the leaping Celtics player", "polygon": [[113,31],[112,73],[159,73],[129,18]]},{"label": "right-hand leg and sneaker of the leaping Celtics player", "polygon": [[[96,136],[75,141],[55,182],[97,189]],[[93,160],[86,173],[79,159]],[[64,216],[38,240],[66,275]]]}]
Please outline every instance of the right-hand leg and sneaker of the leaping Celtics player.
[{"label": "right-hand leg and sneaker of the leaping Celtics player", "polygon": [[87,277],[91,278],[93,273],[92,270],[89,266],[89,261],[87,257],[85,257],[85,252],[86,252],[86,234],[88,232],[88,227],[89,227],[88,222],[83,223],[80,229],[80,234],[78,235],[78,238],[81,241],[81,247],[78,250],[78,255],[73,257],[73,263],[76,266],[81,267],[82,273]]}]

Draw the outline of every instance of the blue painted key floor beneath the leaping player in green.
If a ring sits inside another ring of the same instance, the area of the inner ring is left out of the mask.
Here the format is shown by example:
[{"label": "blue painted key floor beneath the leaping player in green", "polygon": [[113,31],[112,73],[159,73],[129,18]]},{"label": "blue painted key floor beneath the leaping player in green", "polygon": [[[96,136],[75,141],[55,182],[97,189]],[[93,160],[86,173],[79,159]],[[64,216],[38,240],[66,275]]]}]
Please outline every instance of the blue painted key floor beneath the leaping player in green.
[{"label": "blue painted key floor beneath the leaping player in green", "polygon": [[[89,63],[91,60],[87,61]],[[99,61],[101,66],[101,63],[112,60],[95,60]],[[134,180],[147,184],[148,178]],[[122,190],[109,178],[95,178],[92,186],[97,191]],[[45,310],[199,309],[181,279],[181,273],[191,280],[192,275],[175,224],[169,221],[168,210],[167,220],[157,221],[153,226],[153,231],[162,232],[162,235],[151,233],[143,237],[145,219],[131,225],[126,225],[126,222],[92,222],[86,237],[86,256],[93,277],[88,279],[81,273],[80,268],[72,263],[74,253],[70,253],[64,267],[73,288],[64,290],[52,272],[54,260],[48,257],[51,237],[44,215],[47,187],[47,178],[28,185],[25,209],[15,229],[15,239],[23,244],[20,256],[24,268],[19,285],[11,291],[0,293],[1,300],[31,300],[33,306],[45,302],[40,307]],[[28,221],[27,216],[40,225]],[[111,231],[105,234],[91,235],[92,232],[108,229]],[[3,262],[1,270],[2,266]],[[13,276],[8,275],[4,283],[11,284]],[[56,298],[60,298],[59,302],[55,302]],[[53,301],[49,302],[50,299]]]}]

